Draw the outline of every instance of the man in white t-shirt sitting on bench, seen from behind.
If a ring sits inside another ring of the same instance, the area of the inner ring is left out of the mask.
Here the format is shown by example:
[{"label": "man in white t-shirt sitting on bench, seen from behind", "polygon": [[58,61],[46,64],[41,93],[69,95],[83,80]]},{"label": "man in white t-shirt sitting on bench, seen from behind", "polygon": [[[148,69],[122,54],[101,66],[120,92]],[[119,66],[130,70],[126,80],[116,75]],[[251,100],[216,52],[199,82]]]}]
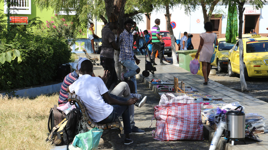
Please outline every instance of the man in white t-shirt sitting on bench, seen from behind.
[{"label": "man in white t-shirt sitting on bench, seen from behind", "polygon": [[[71,93],[75,92],[80,96],[89,117],[94,122],[110,123],[122,115],[124,134],[126,135],[124,144],[129,145],[133,143],[129,136],[129,133],[132,131],[128,106],[139,102],[138,98],[126,99],[127,101],[112,98],[102,79],[91,76],[93,73],[93,64],[90,60],[84,60],[81,63],[80,72],[82,72],[83,76],[67,87],[66,91]],[[104,102],[102,96],[107,103]]]}]

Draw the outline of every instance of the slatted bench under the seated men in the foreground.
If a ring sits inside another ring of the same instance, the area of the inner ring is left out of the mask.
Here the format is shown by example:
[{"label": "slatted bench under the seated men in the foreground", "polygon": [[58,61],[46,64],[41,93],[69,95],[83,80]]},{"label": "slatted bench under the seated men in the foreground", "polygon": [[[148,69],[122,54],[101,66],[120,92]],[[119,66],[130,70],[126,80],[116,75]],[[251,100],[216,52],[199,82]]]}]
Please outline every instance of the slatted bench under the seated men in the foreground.
[{"label": "slatted bench under the seated men in the foreground", "polygon": [[[86,110],[82,100],[80,99],[80,97],[78,95],[76,95],[75,93],[70,93],[67,100],[69,101],[69,103],[71,105],[75,105],[76,108],[80,109],[80,111],[82,113],[82,120],[81,121],[84,125],[87,126],[87,128],[88,127],[91,127],[91,128],[97,127],[99,129],[102,129],[102,130],[107,130],[107,132],[103,132],[102,138],[104,140],[108,141],[113,146],[113,149],[116,149],[116,144],[113,143],[111,135],[113,132],[116,132],[116,131],[120,131],[119,133],[124,134],[124,128],[121,124],[120,119],[117,118],[115,120],[115,122],[110,122],[107,124],[98,124],[98,123],[94,122],[88,116],[87,110]],[[90,130],[90,129],[86,129],[85,127],[83,127],[83,129],[88,130],[88,131]],[[112,129],[117,129],[117,130],[112,130]],[[117,134],[118,134],[118,132],[117,132]],[[105,135],[109,135],[109,139],[105,138],[104,137]]]}]

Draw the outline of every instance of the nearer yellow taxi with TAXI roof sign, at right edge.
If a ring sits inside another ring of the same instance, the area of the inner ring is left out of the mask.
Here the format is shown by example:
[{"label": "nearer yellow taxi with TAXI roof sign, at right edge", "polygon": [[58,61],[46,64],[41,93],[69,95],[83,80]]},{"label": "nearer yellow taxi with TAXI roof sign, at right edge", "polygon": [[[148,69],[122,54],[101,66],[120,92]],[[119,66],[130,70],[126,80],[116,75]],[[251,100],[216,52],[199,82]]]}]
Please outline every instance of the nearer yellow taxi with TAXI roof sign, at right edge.
[{"label": "nearer yellow taxi with TAXI roof sign, at right edge", "polygon": [[[250,78],[268,77],[268,39],[259,34],[250,38],[242,38],[244,45],[244,76],[246,81]],[[229,51],[228,74],[239,74],[239,42]]]}]

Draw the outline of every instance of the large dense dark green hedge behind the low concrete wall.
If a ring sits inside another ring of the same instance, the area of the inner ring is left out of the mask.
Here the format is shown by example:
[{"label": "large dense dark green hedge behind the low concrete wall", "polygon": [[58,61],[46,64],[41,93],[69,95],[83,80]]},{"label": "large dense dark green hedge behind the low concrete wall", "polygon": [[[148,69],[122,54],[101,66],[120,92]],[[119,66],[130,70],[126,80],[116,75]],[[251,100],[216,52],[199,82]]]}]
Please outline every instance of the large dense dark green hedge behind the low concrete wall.
[{"label": "large dense dark green hedge behind the low concrete wall", "polygon": [[12,42],[20,50],[22,62],[0,64],[0,90],[29,87],[53,81],[57,67],[68,63],[71,56],[68,44],[57,38],[17,34]]}]

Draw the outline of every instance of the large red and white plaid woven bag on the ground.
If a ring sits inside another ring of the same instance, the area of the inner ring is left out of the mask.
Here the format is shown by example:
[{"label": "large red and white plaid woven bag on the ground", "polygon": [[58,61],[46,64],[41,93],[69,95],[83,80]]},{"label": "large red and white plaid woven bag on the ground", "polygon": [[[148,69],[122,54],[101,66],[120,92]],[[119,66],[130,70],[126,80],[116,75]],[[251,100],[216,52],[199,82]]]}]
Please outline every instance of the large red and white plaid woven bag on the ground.
[{"label": "large red and white plaid woven bag on the ground", "polygon": [[166,103],[155,109],[156,130],[153,138],[159,141],[203,140],[200,103]]}]

